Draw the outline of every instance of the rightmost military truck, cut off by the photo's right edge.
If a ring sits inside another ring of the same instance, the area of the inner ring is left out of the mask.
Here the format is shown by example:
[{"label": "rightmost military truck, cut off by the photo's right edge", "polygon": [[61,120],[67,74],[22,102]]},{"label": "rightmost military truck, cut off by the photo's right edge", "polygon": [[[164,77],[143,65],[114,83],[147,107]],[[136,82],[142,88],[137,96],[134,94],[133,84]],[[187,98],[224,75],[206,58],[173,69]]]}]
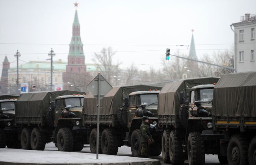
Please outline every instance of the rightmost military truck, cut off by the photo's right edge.
[{"label": "rightmost military truck, cut off by the photo's right edge", "polygon": [[222,75],[214,88],[212,114],[212,134],[223,134],[223,161],[256,165],[256,72]]}]

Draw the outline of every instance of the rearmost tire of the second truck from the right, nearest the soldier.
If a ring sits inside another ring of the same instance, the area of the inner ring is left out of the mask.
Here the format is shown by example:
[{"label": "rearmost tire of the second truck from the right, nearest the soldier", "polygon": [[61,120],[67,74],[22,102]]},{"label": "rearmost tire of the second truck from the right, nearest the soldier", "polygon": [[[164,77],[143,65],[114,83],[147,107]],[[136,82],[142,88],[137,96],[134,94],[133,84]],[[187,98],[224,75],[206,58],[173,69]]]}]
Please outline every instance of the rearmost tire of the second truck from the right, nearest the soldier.
[{"label": "rearmost tire of the second truck from the right, nearest the soldier", "polygon": [[170,131],[164,130],[163,136],[162,136],[162,157],[164,163],[170,163],[170,157],[169,157],[169,137],[170,137]]}]

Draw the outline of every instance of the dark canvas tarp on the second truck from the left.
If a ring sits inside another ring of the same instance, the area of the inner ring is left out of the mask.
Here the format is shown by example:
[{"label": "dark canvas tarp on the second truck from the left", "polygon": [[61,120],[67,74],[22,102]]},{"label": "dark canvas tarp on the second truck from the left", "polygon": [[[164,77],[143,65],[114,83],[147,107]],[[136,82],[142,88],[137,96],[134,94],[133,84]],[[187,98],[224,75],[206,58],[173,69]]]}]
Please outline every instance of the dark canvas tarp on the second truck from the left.
[{"label": "dark canvas tarp on the second truck from the left", "polygon": [[61,90],[20,94],[15,102],[16,117],[44,117],[50,102],[62,95],[85,94],[85,92]]}]

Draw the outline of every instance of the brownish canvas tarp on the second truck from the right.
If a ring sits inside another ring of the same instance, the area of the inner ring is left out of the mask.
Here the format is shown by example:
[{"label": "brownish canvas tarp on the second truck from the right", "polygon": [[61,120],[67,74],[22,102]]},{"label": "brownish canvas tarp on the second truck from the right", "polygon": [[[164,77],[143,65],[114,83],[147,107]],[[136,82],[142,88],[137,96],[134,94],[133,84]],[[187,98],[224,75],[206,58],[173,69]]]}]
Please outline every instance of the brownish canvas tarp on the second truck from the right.
[{"label": "brownish canvas tarp on the second truck from the right", "polygon": [[166,83],[159,94],[158,115],[178,115],[180,92],[197,85],[217,83],[218,80],[218,77],[200,77]]}]

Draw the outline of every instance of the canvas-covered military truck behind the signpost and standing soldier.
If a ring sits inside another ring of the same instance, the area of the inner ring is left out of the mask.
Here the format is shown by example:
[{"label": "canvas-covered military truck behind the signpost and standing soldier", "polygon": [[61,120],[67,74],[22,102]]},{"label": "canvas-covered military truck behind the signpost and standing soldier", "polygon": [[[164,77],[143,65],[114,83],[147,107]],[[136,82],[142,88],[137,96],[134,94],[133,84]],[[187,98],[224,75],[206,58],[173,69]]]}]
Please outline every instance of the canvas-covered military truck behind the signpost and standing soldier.
[{"label": "canvas-covered military truck behind the signpost and standing soldier", "polygon": [[[135,85],[113,87],[100,101],[99,153],[116,155],[118,147],[131,147],[132,156],[141,153],[141,117],[147,115],[157,125],[157,104],[160,87]],[[141,106],[140,106],[141,105]],[[96,153],[97,99],[89,93],[83,104],[83,125],[90,128],[88,142]],[[152,125],[153,129],[153,125]],[[161,134],[153,134],[155,144],[150,155],[161,154]]]}]

